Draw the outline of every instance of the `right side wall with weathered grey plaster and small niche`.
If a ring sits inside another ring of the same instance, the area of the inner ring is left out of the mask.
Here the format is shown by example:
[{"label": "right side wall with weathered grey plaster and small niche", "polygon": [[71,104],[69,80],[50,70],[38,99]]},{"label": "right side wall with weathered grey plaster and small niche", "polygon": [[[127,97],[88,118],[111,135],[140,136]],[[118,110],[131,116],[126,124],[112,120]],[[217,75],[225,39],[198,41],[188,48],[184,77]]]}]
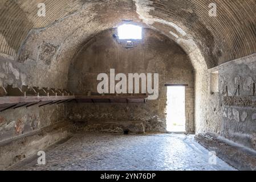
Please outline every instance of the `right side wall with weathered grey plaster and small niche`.
[{"label": "right side wall with weathered grey plaster and small niche", "polygon": [[[219,92],[211,92],[210,78],[216,71]],[[202,74],[208,81],[202,82],[201,98],[197,98],[201,100],[201,109],[197,110],[201,115],[197,116],[200,119],[196,120],[196,133],[212,132],[243,146],[256,148],[255,71],[254,54]]]}]

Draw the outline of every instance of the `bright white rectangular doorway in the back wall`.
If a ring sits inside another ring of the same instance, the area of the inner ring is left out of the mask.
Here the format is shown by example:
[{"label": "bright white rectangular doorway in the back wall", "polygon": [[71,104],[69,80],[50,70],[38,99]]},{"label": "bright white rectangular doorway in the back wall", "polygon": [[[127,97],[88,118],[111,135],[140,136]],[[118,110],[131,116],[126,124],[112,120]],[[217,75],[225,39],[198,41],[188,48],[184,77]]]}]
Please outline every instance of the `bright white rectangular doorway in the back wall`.
[{"label": "bright white rectangular doorway in the back wall", "polygon": [[167,87],[166,130],[185,132],[185,86]]}]

